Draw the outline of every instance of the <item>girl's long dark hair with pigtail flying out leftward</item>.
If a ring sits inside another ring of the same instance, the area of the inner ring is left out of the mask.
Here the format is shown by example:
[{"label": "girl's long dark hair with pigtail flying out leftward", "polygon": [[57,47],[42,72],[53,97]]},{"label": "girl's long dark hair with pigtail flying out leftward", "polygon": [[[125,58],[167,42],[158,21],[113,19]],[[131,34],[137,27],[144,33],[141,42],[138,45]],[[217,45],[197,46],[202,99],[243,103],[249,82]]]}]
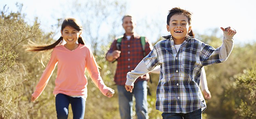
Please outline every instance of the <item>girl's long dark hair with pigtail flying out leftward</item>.
[{"label": "girl's long dark hair with pigtail flying out leftward", "polygon": [[[61,25],[61,31],[63,31],[63,29],[67,26],[70,26],[72,28],[74,28],[77,31],[82,31],[83,28],[80,24],[77,23],[76,19],[74,18],[66,18],[62,25]],[[51,44],[51,45],[42,45],[42,46],[28,46],[28,51],[43,51],[43,50],[51,50],[53,49],[55,46],[57,46],[58,44],[61,44],[63,41],[63,37],[60,37],[55,43]],[[79,44],[83,44],[84,45],[84,40],[82,37],[78,38],[78,43]]]}]

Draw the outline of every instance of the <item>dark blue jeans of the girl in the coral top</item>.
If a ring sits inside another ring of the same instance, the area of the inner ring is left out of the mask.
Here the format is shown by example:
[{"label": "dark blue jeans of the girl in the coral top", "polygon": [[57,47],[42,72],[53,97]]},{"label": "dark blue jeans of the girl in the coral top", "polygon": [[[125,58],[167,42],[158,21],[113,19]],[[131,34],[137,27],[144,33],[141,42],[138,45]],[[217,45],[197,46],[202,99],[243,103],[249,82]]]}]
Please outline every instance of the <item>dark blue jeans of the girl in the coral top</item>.
[{"label": "dark blue jeans of the girl in the coral top", "polygon": [[73,119],[83,119],[85,111],[85,100],[83,98],[73,98],[65,94],[57,94],[55,98],[57,118],[68,118],[69,104],[71,104]]}]

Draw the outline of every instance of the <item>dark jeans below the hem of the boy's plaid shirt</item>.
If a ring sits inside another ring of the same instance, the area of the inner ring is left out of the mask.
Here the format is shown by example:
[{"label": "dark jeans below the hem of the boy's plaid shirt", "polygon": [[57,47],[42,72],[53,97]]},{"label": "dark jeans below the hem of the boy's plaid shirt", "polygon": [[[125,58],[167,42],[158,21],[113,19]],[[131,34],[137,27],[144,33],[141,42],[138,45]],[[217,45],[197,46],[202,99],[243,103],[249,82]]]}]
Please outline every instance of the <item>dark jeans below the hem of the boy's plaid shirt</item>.
[{"label": "dark jeans below the hem of the boy's plaid shirt", "polygon": [[162,113],[163,119],[202,119],[201,109],[191,113]]}]

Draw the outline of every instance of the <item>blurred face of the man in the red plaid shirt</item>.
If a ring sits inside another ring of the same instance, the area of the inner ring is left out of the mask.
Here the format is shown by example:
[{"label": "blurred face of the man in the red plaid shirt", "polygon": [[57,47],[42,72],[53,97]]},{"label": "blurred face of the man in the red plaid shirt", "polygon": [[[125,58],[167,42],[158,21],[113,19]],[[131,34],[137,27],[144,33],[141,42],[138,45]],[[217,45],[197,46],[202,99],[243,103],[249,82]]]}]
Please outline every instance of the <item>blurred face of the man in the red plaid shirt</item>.
[{"label": "blurred face of the man in the red plaid shirt", "polygon": [[126,35],[132,35],[134,33],[133,28],[136,27],[136,24],[135,24],[134,20],[132,19],[132,17],[127,16],[123,19],[122,26],[125,29]]}]

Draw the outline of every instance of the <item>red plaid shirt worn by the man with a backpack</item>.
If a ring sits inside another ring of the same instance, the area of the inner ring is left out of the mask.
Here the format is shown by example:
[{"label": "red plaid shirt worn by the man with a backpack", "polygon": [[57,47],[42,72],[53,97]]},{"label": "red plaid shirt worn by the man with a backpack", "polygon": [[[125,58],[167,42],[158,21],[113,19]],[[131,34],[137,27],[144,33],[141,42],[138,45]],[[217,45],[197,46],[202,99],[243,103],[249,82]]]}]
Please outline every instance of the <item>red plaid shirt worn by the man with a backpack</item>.
[{"label": "red plaid shirt worn by the man with a backpack", "polygon": [[[117,50],[116,42],[117,42],[117,39],[115,39],[111,44],[108,53],[111,53],[114,50]],[[147,55],[153,49],[153,46],[147,40],[147,38],[145,38],[145,42],[146,42],[145,52]],[[128,40],[126,38],[126,35],[124,34],[124,37],[121,42],[120,51],[121,51],[121,54],[120,54],[120,57],[117,59],[117,68],[116,68],[114,81],[117,85],[125,85],[127,73],[133,70],[144,58],[142,47],[141,47],[140,36],[134,33],[134,35],[131,36],[130,40]],[[136,80],[136,82],[144,81],[148,79],[149,79],[149,75],[146,74],[146,75],[143,75],[142,77],[139,77]]]}]

